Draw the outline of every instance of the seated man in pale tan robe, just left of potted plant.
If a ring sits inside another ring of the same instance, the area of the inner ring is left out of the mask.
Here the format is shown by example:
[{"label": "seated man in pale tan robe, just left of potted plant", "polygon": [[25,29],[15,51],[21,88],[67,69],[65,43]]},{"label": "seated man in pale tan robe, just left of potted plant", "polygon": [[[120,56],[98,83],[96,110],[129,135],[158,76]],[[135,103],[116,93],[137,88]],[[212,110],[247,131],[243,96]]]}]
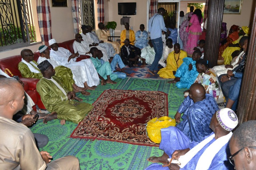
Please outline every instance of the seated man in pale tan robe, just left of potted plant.
[{"label": "seated man in pale tan robe, just left of potted plant", "polygon": [[105,25],[103,23],[98,24],[99,29],[95,31],[96,35],[98,36],[100,41],[104,41],[104,43],[110,43],[115,49],[115,53],[120,53],[120,44],[116,41],[112,41],[108,39],[108,36],[110,36],[109,30],[106,30]]}]

